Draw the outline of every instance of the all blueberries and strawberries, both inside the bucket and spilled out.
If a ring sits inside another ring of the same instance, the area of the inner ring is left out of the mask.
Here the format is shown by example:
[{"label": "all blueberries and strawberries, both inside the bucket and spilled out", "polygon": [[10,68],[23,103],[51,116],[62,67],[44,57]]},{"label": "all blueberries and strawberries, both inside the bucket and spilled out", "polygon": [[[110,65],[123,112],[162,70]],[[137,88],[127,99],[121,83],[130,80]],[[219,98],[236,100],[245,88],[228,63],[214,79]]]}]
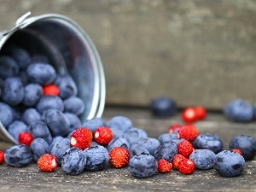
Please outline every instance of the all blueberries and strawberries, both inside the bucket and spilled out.
[{"label": "all blueberries and strawberries, both inside the bucket and spilled out", "polygon": [[[234,177],[244,171],[245,160],[255,156],[253,137],[234,137],[224,150],[218,135],[201,134],[193,123],[206,118],[205,108],[184,109],[184,125],[170,125],[154,138],[124,116],[81,122],[84,102],[77,93],[71,76],[56,73],[46,56],[29,55],[15,45],[5,48],[0,55],[0,119],[20,144],[0,152],[0,164],[21,167],[35,161],[42,172],[61,166],[70,175],[127,166],[134,177],[172,168],[186,175],[214,168],[221,176]],[[158,117],[176,112],[175,103],[166,97],[154,100],[151,108]],[[250,115],[238,113],[241,108],[251,114],[241,102],[227,105],[224,112],[233,119],[240,114],[244,122]]]}]

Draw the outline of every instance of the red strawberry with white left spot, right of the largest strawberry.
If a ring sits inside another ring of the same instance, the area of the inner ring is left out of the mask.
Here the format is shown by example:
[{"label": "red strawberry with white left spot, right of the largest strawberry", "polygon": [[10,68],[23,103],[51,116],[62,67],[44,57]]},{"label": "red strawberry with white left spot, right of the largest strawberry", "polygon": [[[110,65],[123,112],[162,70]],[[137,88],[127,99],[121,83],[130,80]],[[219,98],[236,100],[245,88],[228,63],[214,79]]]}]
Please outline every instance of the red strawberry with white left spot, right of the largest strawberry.
[{"label": "red strawberry with white left spot, right of the largest strawberry", "polygon": [[112,140],[113,133],[107,126],[101,126],[94,132],[94,141],[100,145],[108,145]]}]

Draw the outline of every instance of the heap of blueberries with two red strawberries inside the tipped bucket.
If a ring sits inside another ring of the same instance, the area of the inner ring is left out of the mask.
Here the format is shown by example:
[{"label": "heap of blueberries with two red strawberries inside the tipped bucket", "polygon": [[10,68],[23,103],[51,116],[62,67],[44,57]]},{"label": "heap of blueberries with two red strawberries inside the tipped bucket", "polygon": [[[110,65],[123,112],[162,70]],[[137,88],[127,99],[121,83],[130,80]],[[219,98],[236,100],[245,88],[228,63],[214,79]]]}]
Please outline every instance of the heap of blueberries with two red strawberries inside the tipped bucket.
[{"label": "heap of blueberries with two red strawberries inside the tipped bucket", "polygon": [[49,58],[7,44],[0,54],[0,119],[16,143],[67,137],[81,125],[84,102],[68,73],[56,73]]}]

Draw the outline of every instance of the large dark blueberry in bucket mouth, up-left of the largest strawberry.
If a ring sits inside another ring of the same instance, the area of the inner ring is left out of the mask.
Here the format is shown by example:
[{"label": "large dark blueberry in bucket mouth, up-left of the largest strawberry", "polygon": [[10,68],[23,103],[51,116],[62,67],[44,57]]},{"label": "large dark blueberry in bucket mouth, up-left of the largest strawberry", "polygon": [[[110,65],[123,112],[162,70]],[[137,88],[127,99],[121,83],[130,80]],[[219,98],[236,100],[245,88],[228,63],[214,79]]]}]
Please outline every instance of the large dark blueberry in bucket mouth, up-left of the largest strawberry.
[{"label": "large dark blueberry in bucket mouth, up-left of the largest strawberry", "polygon": [[57,109],[48,109],[44,112],[42,119],[48,125],[52,136],[66,137],[70,132],[70,122],[67,116]]}]

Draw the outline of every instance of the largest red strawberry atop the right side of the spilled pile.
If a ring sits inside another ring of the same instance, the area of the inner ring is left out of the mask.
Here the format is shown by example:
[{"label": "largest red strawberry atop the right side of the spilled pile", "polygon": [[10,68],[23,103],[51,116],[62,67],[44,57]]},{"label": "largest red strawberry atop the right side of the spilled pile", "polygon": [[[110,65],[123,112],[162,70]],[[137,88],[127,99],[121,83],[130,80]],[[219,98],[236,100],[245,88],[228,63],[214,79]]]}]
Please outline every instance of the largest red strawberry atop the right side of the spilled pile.
[{"label": "largest red strawberry atop the right side of the spilled pile", "polygon": [[187,139],[189,142],[193,142],[195,138],[198,136],[199,136],[199,132],[197,131],[195,126],[192,124],[183,125],[183,127],[177,131],[178,138]]}]

